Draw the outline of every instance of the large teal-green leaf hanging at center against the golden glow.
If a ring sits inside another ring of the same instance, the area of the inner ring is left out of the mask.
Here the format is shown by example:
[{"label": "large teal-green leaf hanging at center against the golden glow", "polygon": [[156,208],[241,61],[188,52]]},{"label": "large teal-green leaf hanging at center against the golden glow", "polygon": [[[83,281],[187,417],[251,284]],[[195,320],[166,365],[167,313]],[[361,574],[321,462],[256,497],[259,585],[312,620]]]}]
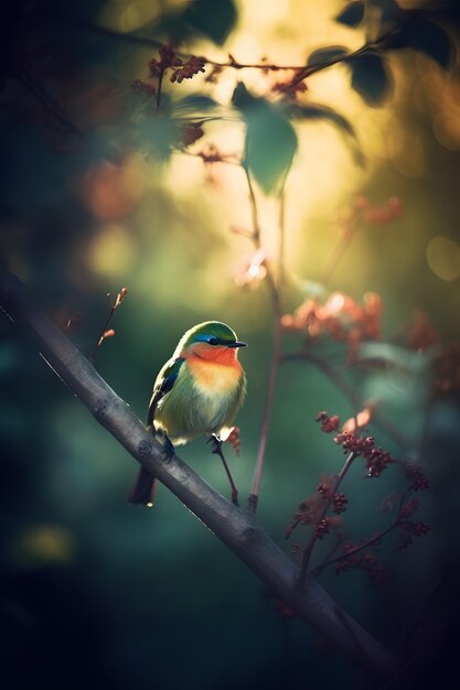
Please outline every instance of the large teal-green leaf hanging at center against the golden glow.
[{"label": "large teal-green leaf hanging at center against the golden glow", "polygon": [[284,183],[297,150],[296,132],[285,114],[264,98],[256,98],[239,83],[233,105],[246,122],[244,163],[266,193]]}]

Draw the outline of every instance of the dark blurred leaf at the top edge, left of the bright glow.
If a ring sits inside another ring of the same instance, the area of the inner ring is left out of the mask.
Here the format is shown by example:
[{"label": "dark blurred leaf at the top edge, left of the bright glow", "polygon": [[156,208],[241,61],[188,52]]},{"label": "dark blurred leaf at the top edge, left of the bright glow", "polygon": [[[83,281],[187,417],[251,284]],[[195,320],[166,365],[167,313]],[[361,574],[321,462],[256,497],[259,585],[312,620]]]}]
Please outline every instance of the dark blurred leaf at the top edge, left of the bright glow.
[{"label": "dark blurred leaf at the top edge, left of the bright glow", "polygon": [[220,45],[235,26],[236,18],[233,0],[192,0],[182,14],[186,24]]}]

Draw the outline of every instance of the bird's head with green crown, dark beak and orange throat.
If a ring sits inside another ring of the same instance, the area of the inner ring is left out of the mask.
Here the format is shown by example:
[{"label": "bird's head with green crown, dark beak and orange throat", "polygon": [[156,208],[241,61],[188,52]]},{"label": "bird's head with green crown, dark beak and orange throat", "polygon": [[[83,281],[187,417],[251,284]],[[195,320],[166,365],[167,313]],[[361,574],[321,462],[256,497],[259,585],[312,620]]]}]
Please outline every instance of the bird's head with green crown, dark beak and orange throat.
[{"label": "bird's head with green crown, dark beak and orange throat", "polygon": [[178,354],[224,363],[236,359],[238,347],[246,347],[246,343],[238,341],[235,331],[221,321],[205,321],[184,333],[178,345]]}]

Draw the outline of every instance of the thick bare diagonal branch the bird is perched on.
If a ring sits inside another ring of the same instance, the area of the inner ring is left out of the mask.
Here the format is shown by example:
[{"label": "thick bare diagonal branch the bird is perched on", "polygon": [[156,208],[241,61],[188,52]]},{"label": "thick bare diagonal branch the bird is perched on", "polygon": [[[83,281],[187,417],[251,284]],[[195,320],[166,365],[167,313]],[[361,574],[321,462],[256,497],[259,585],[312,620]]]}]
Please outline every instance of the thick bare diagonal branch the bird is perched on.
[{"label": "thick bare diagonal branch the bird is perched on", "polygon": [[265,583],[274,596],[324,636],[352,662],[375,678],[387,678],[394,659],[256,522],[232,505],[176,455],[162,461],[162,449],[124,400],[106,384],[73,343],[33,304],[21,281],[0,270],[0,306],[32,336],[44,359],[72,392],[148,472],[157,476]]}]

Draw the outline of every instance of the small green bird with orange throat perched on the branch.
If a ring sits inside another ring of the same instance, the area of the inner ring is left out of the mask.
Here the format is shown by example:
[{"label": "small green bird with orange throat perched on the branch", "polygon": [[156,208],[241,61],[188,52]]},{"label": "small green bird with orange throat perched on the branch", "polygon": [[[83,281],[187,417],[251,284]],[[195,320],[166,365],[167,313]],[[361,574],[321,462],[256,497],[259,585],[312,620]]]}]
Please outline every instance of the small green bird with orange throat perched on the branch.
[{"label": "small green bird with orange throat perched on the branch", "polygon": [[[174,445],[208,434],[212,452],[224,463],[235,504],[237,490],[221,445],[246,395],[239,347],[246,343],[221,321],[205,321],[186,331],[157,376],[147,417],[148,428],[164,439],[167,460]],[[152,506],[156,486],[157,479],[141,467],[128,502]]]}]

